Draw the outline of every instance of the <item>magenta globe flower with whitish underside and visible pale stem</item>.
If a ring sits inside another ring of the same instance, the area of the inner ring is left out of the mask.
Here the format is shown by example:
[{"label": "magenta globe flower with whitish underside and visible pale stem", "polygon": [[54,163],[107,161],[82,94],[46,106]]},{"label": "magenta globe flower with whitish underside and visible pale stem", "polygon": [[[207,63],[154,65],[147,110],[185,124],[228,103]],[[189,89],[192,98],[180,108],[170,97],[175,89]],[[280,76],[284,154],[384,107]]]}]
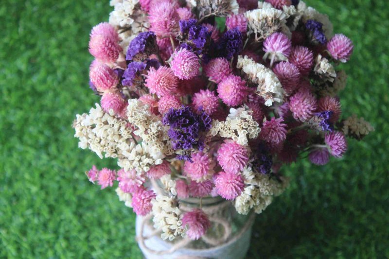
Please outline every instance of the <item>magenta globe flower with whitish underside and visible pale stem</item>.
[{"label": "magenta globe flower with whitish underside and visible pale stem", "polygon": [[292,41],[283,33],[273,33],[264,42],[265,59],[270,59],[270,67],[274,62],[286,61],[292,50]]}]

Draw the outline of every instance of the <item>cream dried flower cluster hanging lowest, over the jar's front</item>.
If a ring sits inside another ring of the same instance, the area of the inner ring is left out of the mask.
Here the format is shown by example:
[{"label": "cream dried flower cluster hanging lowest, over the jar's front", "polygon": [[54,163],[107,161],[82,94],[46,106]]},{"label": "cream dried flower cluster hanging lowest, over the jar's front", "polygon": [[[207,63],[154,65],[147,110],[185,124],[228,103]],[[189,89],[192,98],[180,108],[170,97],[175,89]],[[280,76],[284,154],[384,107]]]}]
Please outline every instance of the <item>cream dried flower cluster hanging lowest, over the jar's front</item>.
[{"label": "cream dried flower cluster hanging lowest, over the jar's front", "polygon": [[163,240],[173,241],[177,236],[182,236],[185,233],[177,198],[157,195],[151,203],[153,204],[154,227],[162,230],[161,238]]}]

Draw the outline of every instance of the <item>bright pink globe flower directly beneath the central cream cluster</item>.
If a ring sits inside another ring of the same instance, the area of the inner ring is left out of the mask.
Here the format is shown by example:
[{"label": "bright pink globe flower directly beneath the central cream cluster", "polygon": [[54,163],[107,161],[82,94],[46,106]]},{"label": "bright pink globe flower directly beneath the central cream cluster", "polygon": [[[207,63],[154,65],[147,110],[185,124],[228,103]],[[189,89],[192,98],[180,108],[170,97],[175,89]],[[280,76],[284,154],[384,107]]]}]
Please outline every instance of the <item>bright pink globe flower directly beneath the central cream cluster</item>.
[{"label": "bright pink globe flower directly beneath the central cream cluster", "polygon": [[248,163],[248,150],[233,140],[225,140],[217,151],[217,161],[227,173],[239,173]]}]

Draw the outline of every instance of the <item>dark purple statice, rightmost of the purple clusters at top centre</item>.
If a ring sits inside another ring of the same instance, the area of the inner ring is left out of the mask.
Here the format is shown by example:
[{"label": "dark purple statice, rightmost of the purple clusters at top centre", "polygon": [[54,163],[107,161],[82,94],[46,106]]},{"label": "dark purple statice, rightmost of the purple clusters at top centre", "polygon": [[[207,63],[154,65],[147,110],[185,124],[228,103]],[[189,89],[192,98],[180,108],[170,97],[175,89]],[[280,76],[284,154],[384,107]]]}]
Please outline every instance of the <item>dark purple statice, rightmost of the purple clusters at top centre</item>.
[{"label": "dark purple statice, rightmost of the purple clusters at top centre", "polygon": [[218,49],[218,55],[220,57],[226,57],[230,60],[233,56],[237,55],[243,50],[243,36],[237,29],[228,30],[223,34],[223,37],[216,45]]}]

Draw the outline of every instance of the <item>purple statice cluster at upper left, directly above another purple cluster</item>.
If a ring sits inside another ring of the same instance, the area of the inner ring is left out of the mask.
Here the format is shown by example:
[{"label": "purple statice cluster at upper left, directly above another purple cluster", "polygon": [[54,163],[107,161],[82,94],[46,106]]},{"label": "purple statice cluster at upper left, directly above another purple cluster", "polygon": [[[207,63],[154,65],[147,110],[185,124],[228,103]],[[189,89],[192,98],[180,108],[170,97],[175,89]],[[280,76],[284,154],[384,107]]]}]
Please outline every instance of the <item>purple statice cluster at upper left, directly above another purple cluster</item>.
[{"label": "purple statice cluster at upper left, directly above another purple cluster", "polygon": [[157,52],[157,37],[153,32],[143,32],[131,40],[125,60],[142,61]]}]

